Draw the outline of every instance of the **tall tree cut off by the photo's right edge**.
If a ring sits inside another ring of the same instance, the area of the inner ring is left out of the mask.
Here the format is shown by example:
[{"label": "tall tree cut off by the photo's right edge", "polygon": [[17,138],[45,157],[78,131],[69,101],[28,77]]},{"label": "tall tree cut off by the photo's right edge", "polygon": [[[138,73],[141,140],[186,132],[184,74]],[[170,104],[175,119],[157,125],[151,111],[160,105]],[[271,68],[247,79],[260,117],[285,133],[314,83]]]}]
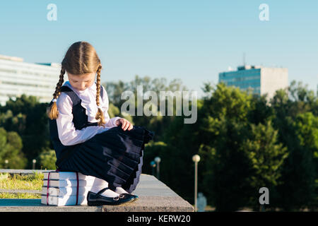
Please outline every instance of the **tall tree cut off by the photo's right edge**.
[{"label": "tall tree cut off by the photo's right edge", "polygon": [[[295,81],[287,90],[277,90],[271,100],[273,126],[278,129],[278,141],[288,148],[288,158],[282,167],[282,183],[277,186],[279,203],[284,210],[299,210],[310,205],[314,194],[317,160],[313,159],[314,107],[317,97]],[[312,112],[308,114],[309,112]],[[311,135],[310,135],[311,134]],[[310,135],[310,136],[309,136]],[[316,189],[317,191],[317,189]]]}]

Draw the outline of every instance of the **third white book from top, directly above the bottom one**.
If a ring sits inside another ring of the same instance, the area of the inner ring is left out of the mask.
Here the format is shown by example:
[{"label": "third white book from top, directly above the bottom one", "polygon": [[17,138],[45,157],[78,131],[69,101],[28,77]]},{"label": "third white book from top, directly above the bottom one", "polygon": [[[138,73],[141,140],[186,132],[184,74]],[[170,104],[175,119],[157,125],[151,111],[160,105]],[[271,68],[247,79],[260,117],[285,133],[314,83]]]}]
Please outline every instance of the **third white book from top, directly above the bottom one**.
[{"label": "third white book from top, directly above the bottom one", "polygon": [[[104,187],[98,187],[98,191],[102,190]],[[87,196],[88,191],[92,189],[92,186],[81,186],[78,187],[78,196]],[[47,195],[49,196],[59,196],[59,197],[64,197],[64,196],[76,196],[76,186],[66,186],[66,187],[61,187],[61,188],[52,188],[49,187],[47,189],[46,186],[42,187],[42,195]]]}]

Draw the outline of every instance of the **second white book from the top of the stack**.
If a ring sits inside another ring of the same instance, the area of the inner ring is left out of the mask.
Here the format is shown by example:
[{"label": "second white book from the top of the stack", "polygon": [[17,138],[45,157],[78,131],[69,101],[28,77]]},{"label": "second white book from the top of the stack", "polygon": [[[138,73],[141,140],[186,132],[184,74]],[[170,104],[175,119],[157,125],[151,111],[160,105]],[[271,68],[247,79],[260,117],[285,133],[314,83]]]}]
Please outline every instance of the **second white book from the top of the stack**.
[{"label": "second white book from the top of the stack", "polygon": [[[104,180],[84,180],[79,179],[78,180],[78,187],[81,186],[107,186],[107,182]],[[43,186],[47,186],[47,179],[43,180]],[[76,179],[59,179],[59,180],[53,180],[49,179],[49,187],[65,187],[65,186],[77,186],[77,180]]]}]

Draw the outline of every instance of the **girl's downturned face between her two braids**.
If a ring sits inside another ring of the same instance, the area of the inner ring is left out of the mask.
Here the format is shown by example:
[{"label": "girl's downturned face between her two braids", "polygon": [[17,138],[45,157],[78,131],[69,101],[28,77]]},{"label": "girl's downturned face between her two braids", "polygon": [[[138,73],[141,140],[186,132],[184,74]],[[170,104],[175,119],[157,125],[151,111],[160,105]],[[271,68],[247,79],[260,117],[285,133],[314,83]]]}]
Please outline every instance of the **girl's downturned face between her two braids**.
[{"label": "girl's downturned face between her two braids", "polygon": [[96,73],[83,73],[81,75],[73,75],[71,73],[67,73],[69,76],[69,83],[76,90],[83,91],[93,85],[95,81]]}]

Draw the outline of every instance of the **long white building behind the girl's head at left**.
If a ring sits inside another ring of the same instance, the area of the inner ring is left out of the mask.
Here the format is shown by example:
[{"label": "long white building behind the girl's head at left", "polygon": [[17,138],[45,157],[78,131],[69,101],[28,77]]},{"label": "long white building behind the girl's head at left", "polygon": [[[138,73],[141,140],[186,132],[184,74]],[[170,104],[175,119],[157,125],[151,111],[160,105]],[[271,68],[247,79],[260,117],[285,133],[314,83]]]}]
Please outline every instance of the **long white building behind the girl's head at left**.
[{"label": "long white building behind the girl's head at left", "polygon": [[54,93],[61,64],[26,63],[20,57],[0,55],[0,105],[6,105],[20,95],[33,95],[40,102],[50,102]]}]

